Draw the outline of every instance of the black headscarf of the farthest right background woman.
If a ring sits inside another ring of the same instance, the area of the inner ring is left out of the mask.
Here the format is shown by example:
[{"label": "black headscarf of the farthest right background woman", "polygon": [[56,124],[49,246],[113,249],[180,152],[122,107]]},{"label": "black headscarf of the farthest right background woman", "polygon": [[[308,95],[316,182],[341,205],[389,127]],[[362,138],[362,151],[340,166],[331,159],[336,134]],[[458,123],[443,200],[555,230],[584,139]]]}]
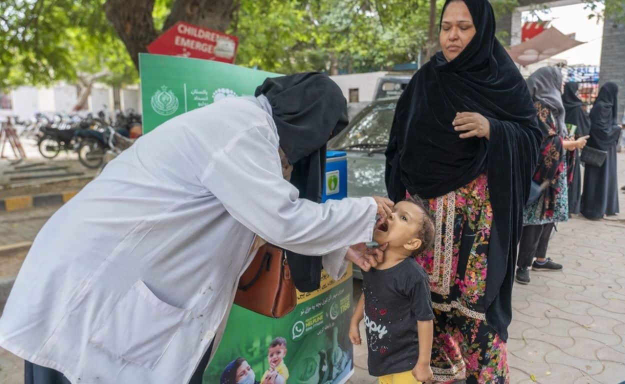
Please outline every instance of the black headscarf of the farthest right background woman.
[{"label": "black headscarf of the farthest right background woman", "polygon": [[620,128],[617,126],[617,96],[619,87],[614,83],[606,83],[599,90],[590,111],[591,133],[588,145],[592,148],[607,151],[616,145]]}]

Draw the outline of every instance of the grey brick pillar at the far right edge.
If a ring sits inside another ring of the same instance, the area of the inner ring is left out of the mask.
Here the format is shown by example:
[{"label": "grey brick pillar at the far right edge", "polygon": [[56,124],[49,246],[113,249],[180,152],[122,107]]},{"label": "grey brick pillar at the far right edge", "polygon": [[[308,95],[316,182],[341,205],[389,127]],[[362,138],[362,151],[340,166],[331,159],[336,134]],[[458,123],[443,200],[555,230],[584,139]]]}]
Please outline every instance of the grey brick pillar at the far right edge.
[{"label": "grey brick pillar at the far right edge", "polygon": [[619,121],[625,110],[625,26],[609,20],[603,24],[599,84],[612,81],[619,86]]}]

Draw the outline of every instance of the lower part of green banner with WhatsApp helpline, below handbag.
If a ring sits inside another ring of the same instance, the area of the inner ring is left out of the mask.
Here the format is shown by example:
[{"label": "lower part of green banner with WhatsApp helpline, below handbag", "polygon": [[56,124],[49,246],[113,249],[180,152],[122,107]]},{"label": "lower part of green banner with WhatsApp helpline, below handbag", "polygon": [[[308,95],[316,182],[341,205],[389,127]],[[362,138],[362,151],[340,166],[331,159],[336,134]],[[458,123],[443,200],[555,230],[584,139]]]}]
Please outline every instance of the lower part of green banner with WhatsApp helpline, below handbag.
[{"label": "lower part of green banner with WhatsApp helpline, below handbag", "polygon": [[324,273],[323,281],[321,290],[299,293],[297,307],[284,318],[268,318],[234,305],[221,344],[204,372],[203,383],[220,383],[226,367],[242,358],[251,366],[254,380],[262,384],[270,368],[274,341],[286,352],[280,356],[276,369],[287,372],[285,383],[345,383],[354,369],[349,341],[351,271],[340,281]]}]

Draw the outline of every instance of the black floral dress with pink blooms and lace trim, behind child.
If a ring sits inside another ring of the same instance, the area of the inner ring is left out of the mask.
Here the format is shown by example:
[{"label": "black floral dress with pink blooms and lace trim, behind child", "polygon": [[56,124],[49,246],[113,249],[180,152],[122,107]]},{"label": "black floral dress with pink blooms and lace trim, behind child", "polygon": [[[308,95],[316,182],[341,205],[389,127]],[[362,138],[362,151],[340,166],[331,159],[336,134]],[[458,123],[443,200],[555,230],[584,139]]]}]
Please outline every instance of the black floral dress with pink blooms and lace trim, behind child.
[{"label": "black floral dress with pink blooms and lace trim, behind child", "polygon": [[492,226],[488,180],[429,200],[433,249],[417,257],[429,275],[434,308],[434,381],[509,383],[506,343],[486,321],[487,255]]}]

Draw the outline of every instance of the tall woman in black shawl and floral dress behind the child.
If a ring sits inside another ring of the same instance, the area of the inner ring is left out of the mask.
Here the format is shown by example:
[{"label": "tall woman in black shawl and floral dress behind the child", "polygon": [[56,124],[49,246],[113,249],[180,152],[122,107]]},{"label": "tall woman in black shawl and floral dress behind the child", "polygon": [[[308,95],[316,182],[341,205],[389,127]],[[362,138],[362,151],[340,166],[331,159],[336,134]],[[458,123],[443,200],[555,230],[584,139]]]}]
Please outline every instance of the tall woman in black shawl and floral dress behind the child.
[{"label": "tall woman in black shawl and floral dress behind the child", "polygon": [[436,316],[434,380],[507,383],[516,246],[542,133],[487,0],[447,0],[439,39],[397,103],[386,185],[394,201],[426,198],[436,218],[434,248],[417,259]]}]

